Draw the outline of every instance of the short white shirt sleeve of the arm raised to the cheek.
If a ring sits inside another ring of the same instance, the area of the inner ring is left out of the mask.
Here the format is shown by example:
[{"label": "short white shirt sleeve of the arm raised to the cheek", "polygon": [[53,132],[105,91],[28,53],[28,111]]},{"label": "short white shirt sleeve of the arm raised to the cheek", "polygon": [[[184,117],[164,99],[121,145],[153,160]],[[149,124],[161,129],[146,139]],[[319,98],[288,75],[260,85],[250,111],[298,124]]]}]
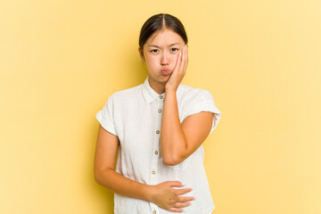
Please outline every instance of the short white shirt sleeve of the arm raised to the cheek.
[{"label": "short white shirt sleeve of the arm raised to the cheek", "polygon": [[218,126],[218,121],[221,118],[221,112],[218,111],[210,92],[203,89],[196,95],[193,95],[192,99],[185,105],[183,120],[192,114],[202,111],[210,111],[214,113],[212,127],[210,128],[210,133],[212,133],[212,131]]}]

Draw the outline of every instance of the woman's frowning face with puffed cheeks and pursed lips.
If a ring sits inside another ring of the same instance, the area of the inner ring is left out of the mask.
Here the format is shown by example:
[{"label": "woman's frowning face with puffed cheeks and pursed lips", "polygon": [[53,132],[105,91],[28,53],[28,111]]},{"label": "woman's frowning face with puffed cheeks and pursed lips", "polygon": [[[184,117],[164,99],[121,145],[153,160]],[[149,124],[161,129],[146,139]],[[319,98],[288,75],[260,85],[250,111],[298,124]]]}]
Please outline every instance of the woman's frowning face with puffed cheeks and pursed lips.
[{"label": "woman's frowning face with puffed cheeks and pursed lips", "polygon": [[171,29],[161,29],[149,37],[139,53],[146,63],[150,86],[165,86],[185,42]]}]

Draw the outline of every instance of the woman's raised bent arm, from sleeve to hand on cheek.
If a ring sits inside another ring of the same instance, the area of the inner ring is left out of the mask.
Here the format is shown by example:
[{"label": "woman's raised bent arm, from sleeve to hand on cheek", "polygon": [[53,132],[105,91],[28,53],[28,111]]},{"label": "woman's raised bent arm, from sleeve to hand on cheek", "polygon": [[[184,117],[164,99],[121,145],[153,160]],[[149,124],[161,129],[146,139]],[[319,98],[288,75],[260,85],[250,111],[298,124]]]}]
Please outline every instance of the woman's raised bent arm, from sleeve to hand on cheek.
[{"label": "woman's raised bent arm, from sleeve to hand on cheek", "polygon": [[190,156],[210,134],[213,113],[200,112],[180,123],[177,108],[177,87],[185,76],[187,47],[177,56],[177,65],[165,88],[161,118],[161,155],[168,165],[177,165]]}]

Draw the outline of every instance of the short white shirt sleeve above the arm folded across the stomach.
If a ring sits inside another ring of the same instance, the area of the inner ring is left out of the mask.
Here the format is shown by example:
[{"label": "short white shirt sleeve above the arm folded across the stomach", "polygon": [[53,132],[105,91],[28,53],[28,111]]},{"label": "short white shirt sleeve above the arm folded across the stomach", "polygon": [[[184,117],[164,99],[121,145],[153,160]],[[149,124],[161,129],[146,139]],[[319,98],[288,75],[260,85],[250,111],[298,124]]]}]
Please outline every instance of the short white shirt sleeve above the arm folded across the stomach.
[{"label": "short white shirt sleeve above the arm folded across the stomach", "polygon": [[103,110],[98,111],[95,114],[95,118],[100,122],[102,127],[106,129],[106,131],[110,132],[112,135],[117,136],[113,119],[113,110],[114,106],[111,96],[108,98],[107,103],[103,106]]}]

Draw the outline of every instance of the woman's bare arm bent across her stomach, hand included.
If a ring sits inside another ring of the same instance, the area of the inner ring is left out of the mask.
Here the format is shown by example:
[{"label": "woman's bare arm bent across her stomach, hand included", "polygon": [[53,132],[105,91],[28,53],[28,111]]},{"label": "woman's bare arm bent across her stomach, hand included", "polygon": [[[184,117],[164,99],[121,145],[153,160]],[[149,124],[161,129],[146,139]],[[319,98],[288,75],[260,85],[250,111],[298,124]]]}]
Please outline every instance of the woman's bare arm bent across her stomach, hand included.
[{"label": "woman's bare arm bent across her stomach, hand included", "polygon": [[192,189],[172,188],[183,186],[178,181],[144,185],[117,173],[114,168],[118,146],[119,138],[100,126],[95,151],[95,180],[97,183],[111,189],[114,193],[153,202],[165,210],[180,212],[183,211],[180,208],[190,205],[193,197],[180,195]]}]

